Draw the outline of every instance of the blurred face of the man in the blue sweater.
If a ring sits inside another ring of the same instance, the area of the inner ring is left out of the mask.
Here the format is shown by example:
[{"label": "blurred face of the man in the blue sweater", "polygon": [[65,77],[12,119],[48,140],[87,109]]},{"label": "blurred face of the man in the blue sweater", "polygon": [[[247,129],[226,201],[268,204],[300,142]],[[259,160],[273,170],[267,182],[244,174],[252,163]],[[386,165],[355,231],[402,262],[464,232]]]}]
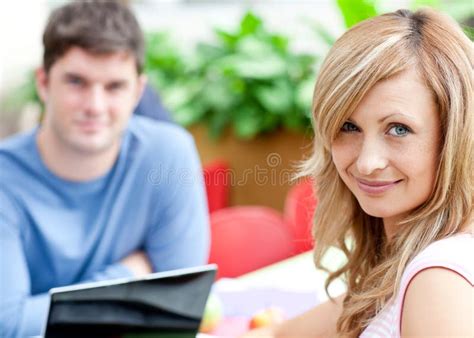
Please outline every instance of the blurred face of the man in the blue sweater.
[{"label": "blurred face of the man in the blue sweater", "polygon": [[48,73],[37,72],[45,103],[43,133],[58,147],[99,154],[120,142],[145,85],[126,52],[91,54],[73,47]]}]

